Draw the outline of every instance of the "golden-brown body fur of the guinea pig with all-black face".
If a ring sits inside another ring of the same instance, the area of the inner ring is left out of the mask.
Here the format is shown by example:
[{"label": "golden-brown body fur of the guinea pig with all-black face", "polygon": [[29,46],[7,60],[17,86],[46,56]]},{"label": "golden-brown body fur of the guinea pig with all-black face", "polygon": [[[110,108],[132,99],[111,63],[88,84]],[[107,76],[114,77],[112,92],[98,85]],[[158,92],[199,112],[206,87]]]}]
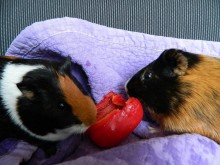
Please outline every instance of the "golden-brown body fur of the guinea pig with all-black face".
[{"label": "golden-brown body fur of the guinea pig with all-black face", "polygon": [[220,143],[220,60],[207,56],[200,59],[180,77],[180,82],[192,86],[191,95],[175,113],[155,118],[164,131],[198,133]]}]

